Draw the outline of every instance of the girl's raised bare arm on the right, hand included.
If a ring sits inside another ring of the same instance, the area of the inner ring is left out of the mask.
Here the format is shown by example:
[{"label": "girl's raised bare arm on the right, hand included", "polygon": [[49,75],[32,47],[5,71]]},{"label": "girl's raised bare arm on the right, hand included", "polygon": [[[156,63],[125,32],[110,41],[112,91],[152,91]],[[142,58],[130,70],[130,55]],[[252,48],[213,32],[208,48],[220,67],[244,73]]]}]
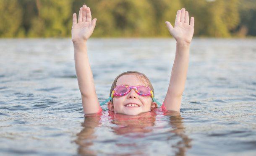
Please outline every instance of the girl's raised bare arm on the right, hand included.
[{"label": "girl's raised bare arm on the right, hand included", "polygon": [[177,12],[174,28],[170,22],[165,23],[170,34],[176,39],[176,53],[164,106],[169,111],[179,112],[187,78],[189,47],[194,33],[194,18],[191,17],[189,24],[188,11],[182,8]]}]

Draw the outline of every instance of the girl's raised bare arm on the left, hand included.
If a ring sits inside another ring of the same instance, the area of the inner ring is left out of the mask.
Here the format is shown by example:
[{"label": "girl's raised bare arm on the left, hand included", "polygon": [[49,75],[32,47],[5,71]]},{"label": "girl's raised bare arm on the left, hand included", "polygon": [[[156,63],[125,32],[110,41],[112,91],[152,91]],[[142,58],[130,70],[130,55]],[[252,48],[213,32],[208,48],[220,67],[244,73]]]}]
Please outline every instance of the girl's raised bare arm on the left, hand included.
[{"label": "girl's raised bare arm on the left, hand included", "polygon": [[72,41],[76,76],[81,92],[84,114],[96,113],[100,109],[86,46],[87,39],[91,36],[96,25],[96,20],[94,18],[91,21],[91,10],[86,5],[80,8],[78,21],[76,20],[76,13],[73,14]]}]

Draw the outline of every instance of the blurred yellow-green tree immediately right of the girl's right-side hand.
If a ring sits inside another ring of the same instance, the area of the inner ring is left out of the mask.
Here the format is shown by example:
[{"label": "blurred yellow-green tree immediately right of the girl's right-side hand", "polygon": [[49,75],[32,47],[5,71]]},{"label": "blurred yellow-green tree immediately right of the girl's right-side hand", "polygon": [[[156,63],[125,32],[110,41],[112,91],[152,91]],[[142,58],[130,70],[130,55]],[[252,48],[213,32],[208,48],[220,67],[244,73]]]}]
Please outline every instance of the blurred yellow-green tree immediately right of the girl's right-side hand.
[{"label": "blurred yellow-green tree immediately right of the girl's right-side hand", "polygon": [[230,37],[238,26],[238,0],[182,0],[195,17],[195,35]]}]

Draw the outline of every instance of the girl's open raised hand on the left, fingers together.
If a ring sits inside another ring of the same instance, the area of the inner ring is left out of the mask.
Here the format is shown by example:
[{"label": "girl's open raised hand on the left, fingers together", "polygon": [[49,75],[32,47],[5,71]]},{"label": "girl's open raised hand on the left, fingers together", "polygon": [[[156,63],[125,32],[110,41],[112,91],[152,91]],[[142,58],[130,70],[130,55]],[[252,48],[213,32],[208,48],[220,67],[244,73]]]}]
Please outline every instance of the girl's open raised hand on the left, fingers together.
[{"label": "girl's open raised hand on the left, fingers together", "polygon": [[76,21],[76,13],[73,13],[72,41],[73,43],[84,43],[91,36],[97,19],[91,21],[91,10],[83,5],[79,10],[78,22]]}]

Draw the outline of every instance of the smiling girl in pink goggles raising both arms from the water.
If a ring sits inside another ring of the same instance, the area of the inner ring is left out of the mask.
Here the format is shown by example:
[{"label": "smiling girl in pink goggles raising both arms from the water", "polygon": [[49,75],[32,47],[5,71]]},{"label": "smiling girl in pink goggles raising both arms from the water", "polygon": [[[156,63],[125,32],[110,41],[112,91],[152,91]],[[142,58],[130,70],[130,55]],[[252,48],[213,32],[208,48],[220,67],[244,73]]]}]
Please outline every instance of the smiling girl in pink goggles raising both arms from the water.
[{"label": "smiling girl in pink goggles raising both arms from the water", "polygon": [[[73,14],[72,41],[74,46],[75,67],[78,86],[81,92],[84,114],[101,112],[93,76],[87,56],[87,39],[91,36],[97,19],[91,20],[90,8],[86,5],[79,10],[78,21]],[[154,99],[154,89],[143,73],[129,71],[115,78],[110,89],[107,107],[118,114],[137,115],[149,112],[158,105],[164,111],[180,111],[182,94],[188,70],[189,47],[194,32],[194,18],[189,23],[188,11],[178,10],[174,27],[165,22],[170,34],[176,40],[175,60],[172,67],[170,84],[163,104]],[[102,104],[104,104],[104,102]]]}]

